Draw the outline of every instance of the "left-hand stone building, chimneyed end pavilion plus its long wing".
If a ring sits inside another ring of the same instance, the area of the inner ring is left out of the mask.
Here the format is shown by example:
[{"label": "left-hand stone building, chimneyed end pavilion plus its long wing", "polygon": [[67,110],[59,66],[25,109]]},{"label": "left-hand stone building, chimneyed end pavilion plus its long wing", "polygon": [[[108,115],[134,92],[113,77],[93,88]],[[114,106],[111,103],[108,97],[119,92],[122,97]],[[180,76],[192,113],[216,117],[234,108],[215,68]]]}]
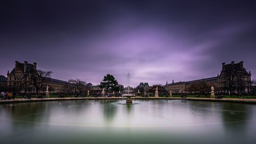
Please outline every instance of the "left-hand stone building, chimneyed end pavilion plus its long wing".
[{"label": "left-hand stone building, chimneyed end pavilion plus its long wing", "polygon": [[[28,84],[29,76],[36,71],[36,63],[29,64],[27,61],[24,63],[15,62],[15,67],[7,73],[7,85],[12,87],[15,92],[33,93],[35,89],[32,85]],[[44,88],[39,90],[39,93],[45,93],[46,85],[49,87],[50,93],[65,92],[68,88],[67,81],[46,78]]]}]

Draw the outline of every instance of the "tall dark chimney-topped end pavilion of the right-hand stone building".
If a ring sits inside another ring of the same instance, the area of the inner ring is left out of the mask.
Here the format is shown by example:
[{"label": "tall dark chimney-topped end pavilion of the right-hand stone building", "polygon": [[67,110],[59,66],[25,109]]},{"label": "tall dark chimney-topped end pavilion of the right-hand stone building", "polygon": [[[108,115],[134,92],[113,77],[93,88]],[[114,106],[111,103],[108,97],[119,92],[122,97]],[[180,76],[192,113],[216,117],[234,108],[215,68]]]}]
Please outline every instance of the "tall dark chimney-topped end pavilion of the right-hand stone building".
[{"label": "tall dark chimney-topped end pavilion of the right-hand stone building", "polygon": [[222,63],[222,70],[218,77],[218,87],[221,92],[249,93],[251,88],[251,73],[244,68],[243,61],[237,64]]}]

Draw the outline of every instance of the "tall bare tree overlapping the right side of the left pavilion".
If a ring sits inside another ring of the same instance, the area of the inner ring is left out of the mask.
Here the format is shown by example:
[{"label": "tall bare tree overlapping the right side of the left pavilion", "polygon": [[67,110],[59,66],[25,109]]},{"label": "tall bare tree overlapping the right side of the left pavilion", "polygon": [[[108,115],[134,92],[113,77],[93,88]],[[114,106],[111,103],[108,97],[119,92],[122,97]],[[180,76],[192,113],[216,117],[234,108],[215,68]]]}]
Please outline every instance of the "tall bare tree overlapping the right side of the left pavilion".
[{"label": "tall bare tree overlapping the right side of the left pavilion", "polygon": [[48,78],[51,78],[52,71],[33,70],[32,74],[27,77],[29,85],[35,88],[36,95],[41,88],[45,87]]}]

